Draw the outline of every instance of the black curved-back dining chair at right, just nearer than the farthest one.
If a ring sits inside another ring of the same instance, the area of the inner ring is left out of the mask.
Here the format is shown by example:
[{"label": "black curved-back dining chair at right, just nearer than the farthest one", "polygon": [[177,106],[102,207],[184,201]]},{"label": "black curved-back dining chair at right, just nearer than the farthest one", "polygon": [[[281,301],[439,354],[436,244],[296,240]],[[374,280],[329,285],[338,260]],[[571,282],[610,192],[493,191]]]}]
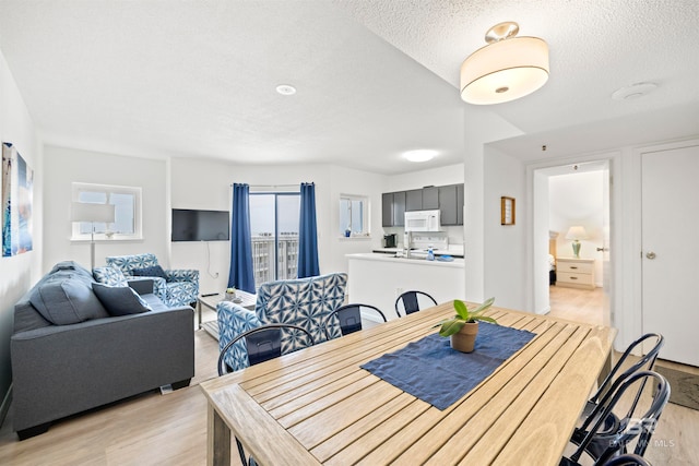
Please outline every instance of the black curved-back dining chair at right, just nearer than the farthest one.
[{"label": "black curved-back dining chair at right, just nearer than the farthest one", "polygon": [[[635,416],[636,406],[633,406],[619,419],[619,425],[614,430],[606,431],[605,420],[621,396],[628,390],[636,390],[636,385],[643,385],[649,380],[653,382],[655,390],[645,414],[640,417]],[[595,465],[604,465],[612,457],[628,453],[627,447],[635,440],[636,447],[632,453],[643,456],[668,399],[670,384],[657,372],[638,371],[630,374],[605,393],[582,426],[573,430],[570,443],[577,449],[569,457],[561,458],[560,466],[578,466],[583,454],[592,458]]]}]

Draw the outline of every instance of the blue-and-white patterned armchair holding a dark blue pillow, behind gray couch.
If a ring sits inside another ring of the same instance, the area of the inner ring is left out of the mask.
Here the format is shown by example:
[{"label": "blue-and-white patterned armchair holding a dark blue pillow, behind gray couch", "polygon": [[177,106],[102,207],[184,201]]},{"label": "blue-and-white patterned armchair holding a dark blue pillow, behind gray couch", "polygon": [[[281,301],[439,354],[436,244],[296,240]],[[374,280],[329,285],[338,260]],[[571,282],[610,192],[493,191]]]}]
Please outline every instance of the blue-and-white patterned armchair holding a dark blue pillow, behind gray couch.
[{"label": "blue-and-white patterned armchair holding a dark blue pillow, behind gray couch", "polygon": [[[107,265],[120,270],[126,279],[134,278],[133,273],[137,268],[149,268],[159,265],[157,258],[153,253],[132,254],[132,255],[112,255],[107,256]],[[102,267],[108,268],[108,267]],[[196,270],[164,270],[165,278],[153,278],[153,292],[165,302],[168,307],[190,306],[197,302],[199,295],[199,271]],[[102,282],[95,270],[95,278]],[[116,285],[108,282],[107,285]]]}]

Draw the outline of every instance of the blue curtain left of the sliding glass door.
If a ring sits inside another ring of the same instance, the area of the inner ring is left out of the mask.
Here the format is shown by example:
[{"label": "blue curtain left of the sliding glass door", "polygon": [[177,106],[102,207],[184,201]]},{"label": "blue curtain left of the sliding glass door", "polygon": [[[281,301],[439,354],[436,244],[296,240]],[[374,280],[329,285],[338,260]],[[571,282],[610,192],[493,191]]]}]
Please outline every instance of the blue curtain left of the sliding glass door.
[{"label": "blue curtain left of the sliding glass door", "polygon": [[254,294],[250,238],[250,187],[242,183],[233,184],[228,286]]}]

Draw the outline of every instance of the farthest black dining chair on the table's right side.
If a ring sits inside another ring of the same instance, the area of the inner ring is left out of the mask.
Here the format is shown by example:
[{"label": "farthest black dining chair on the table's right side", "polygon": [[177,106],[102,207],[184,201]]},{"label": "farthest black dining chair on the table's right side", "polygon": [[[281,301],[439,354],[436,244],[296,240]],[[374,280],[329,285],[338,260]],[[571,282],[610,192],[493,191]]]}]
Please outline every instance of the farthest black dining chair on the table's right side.
[{"label": "farthest black dining chair on the table's right side", "polygon": [[[617,372],[621,370],[621,366],[624,366],[625,361],[628,359],[631,353],[633,353],[636,348],[641,347],[643,343],[651,343],[653,347],[645,355],[639,358],[639,360],[636,363],[631,365],[628,369],[621,372],[620,375],[617,377]],[[606,394],[609,391],[614,391],[629,375],[640,370],[652,370],[653,366],[655,365],[655,360],[657,359],[657,354],[660,353],[660,349],[663,347],[664,343],[665,343],[665,338],[657,333],[647,333],[640,338],[632,342],[626,348],[626,350],[624,351],[619,360],[616,361],[612,371],[600,384],[597,391],[590,397],[590,399],[585,404],[585,407],[583,408],[582,415],[580,417],[580,421],[582,422],[590,415],[590,413],[592,413],[592,410],[597,406],[597,404],[600,403],[600,399],[602,398],[602,396],[604,396],[604,394]],[[641,383],[641,385],[638,389],[638,392],[636,393],[633,402],[631,404],[631,409],[636,409],[636,405],[638,404],[638,401],[641,397],[641,393],[643,392],[643,386],[644,386],[644,383]],[[616,429],[618,423],[619,423],[619,419],[616,417],[616,415],[612,413],[609,417],[605,420],[604,430],[606,431],[614,430]]]}]

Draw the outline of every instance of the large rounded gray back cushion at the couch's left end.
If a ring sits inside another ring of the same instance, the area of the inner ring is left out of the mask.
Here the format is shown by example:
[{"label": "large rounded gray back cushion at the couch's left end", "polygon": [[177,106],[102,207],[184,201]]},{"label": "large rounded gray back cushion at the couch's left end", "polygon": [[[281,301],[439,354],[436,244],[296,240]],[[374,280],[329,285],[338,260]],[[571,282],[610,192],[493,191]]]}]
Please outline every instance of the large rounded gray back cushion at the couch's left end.
[{"label": "large rounded gray back cushion at the couch's left end", "polygon": [[109,314],[92,291],[91,283],[69,271],[57,272],[37,285],[29,302],[55,325],[69,325]]}]

